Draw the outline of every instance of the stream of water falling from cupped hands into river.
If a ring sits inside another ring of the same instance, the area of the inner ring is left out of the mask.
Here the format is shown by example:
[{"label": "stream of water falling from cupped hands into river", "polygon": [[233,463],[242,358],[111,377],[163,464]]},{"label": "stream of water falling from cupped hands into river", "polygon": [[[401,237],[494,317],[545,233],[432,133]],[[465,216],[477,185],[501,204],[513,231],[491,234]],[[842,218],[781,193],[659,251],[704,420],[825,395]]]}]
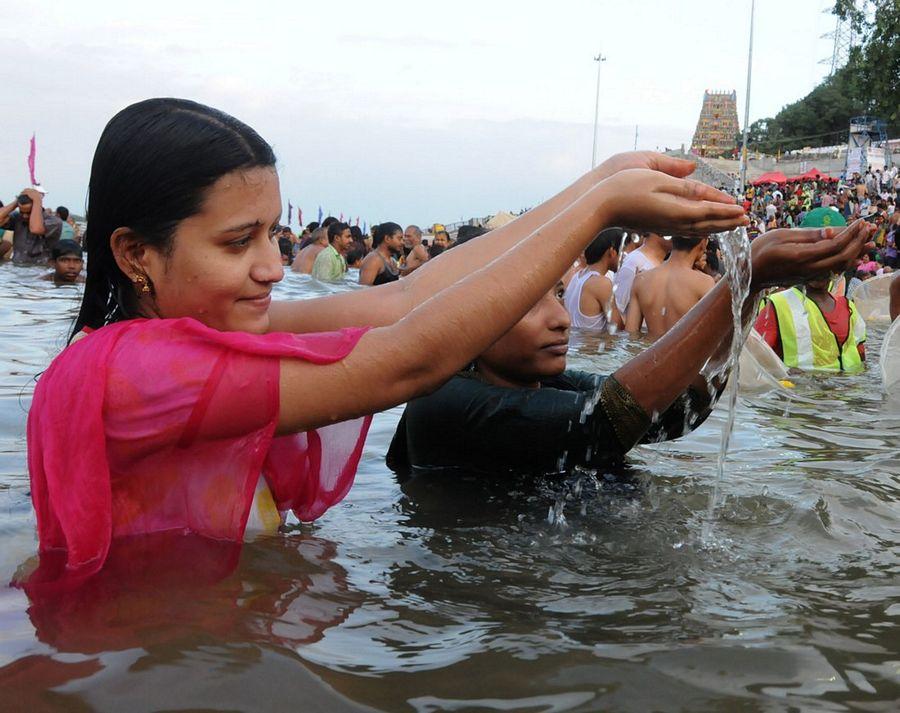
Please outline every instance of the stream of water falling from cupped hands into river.
[{"label": "stream of water falling from cupped hands into river", "polygon": [[[734,430],[735,411],[737,410],[738,382],[740,381],[740,356],[741,349],[747,334],[744,331],[741,311],[744,301],[750,294],[750,240],[747,231],[743,227],[727,233],[715,236],[718,239],[722,257],[725,262],[725,279],[731,288],[731,319],[734,333],[731,337],[731,349],[728,358],[719,366],[713,366],[710,376],[707,377],[711,393],[715,391],[715,382],[731,373],[728,381],[727,416],[722,424],[722,437],[719,441],[719,456],[716,461],[716,480],[712,492],[709,495],[709,504],[706,510],[706,519],[703,522],[702,541],[710,542],[712,525],[716,515],[716,505],[719,499],[719,490],[725,473],[725,459],[728,455],[728,446],[731,442],[731,433]],[[748,325],[749,327],[749,325]]]}]

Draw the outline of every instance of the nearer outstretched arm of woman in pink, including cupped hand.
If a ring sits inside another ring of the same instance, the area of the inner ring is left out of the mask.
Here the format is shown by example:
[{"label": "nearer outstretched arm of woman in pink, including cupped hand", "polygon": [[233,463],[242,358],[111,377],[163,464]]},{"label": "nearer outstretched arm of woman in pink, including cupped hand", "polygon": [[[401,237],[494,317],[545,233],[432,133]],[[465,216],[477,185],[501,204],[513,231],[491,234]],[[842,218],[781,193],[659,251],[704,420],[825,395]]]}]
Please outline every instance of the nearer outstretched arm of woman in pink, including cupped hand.
[{"label": "nearer outstretched arm of woman in pink, including cupped hand", "polygon": [[603,226],[709,233],[745,221],[739,206],[708,186],[621,171],[395,324],[364,335],[342,361],[282,360],[279,431],[374,413],[436,388],[512,327]]}]

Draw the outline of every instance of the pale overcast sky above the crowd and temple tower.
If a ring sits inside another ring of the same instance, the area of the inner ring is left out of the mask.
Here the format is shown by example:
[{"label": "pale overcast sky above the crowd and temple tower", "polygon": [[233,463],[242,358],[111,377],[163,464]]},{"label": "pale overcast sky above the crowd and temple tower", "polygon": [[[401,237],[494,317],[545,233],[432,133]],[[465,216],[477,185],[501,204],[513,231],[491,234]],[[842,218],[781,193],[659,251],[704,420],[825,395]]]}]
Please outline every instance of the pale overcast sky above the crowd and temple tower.
[{"label": "pale overcast sky above the crowd and temple tower", "polygon": [[[825,75],[828,0],[758,0],[750,119]],[[600,156],[689,144],[704,89],[743,123],[750,0],[16,3],[0,22],[0,199],[37,178],[83,212],[119,109],[177,96],[275,147],[282,195],[369,224],[533,205]]]}]

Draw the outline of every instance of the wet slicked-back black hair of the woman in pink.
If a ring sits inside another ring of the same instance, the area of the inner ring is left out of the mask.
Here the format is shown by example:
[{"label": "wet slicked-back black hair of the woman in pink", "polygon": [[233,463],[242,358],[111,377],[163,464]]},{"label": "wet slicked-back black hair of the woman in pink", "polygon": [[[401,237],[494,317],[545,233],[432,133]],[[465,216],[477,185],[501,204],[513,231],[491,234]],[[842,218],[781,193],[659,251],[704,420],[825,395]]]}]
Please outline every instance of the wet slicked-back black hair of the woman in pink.
[{"label": "wet slicked-back black hair of the woman in pink", "polygon": [[147,99],[110,119],[91,164],[87,278],[72,336],[139,316],[137,292],[109,244],[117,228],[167,253],[178,224],[200,211],[218,179],[274,165],[272,147],[253,129],[187,99]]}]

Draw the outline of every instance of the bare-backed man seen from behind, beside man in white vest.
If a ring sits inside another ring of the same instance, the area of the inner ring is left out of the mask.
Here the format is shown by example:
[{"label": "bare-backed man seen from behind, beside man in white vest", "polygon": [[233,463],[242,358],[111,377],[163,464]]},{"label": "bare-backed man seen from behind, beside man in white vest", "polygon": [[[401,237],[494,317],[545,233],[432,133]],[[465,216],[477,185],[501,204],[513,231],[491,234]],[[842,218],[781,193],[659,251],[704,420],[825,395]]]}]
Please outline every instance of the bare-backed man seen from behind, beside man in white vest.
[{"label": "bare-backed man seen from behind, beside man in white vest", "polygon": [[674,236],[669,259],[634,278],[625,331],[636,334],[646,321],[650,338],[659,339],[715,287],[712,277],[694,267],[706,254],[706,243],[706,238]]}]

